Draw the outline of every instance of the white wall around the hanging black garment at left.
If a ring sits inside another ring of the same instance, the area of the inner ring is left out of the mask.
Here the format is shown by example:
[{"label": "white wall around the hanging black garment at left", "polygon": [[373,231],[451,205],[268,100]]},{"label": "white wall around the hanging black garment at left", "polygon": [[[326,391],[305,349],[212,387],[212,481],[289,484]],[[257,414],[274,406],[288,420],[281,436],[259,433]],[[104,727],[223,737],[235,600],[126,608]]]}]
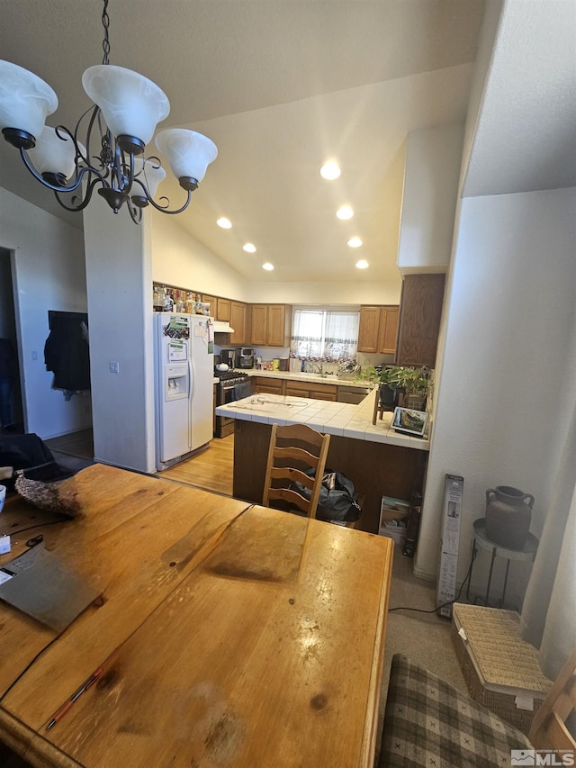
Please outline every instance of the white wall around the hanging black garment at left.
[{"label": "white wall around the hanging black garment at left", "polygon": [[82,230],[0,187],[0,246],[14,251],[24,427],[44,439],[85,429],[90,396],[65,401],[44,366],[48,311],[86,311]]}]

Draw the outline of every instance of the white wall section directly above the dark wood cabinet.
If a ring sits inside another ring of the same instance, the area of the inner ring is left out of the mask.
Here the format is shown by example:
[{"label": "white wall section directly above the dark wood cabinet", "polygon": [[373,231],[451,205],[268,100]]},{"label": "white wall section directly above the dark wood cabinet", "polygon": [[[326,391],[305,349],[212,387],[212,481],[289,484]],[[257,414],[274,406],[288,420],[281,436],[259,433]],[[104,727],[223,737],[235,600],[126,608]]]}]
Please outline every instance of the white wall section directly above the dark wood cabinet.
[{"label": "white wall section directly above the dark wood cabinet", "polygon": [[463,142],[463,123],[408,136],[398,245],[402,275],[448,268]]}]

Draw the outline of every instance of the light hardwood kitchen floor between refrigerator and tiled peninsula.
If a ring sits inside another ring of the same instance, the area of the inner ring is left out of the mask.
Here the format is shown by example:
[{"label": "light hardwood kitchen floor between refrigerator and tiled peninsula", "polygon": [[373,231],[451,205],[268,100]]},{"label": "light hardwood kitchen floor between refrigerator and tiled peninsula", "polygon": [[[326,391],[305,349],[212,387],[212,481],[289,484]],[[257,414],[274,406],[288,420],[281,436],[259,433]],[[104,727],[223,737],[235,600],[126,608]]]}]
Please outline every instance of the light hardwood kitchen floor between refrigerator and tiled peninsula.
[{"label": "light hardwood kitchen floor between refrigerator and tiled peninsula", "polygon": [[231,496],[233,465],[234,435],[229,435],[214,438],[202,453],[158,472],[157,476]]}]

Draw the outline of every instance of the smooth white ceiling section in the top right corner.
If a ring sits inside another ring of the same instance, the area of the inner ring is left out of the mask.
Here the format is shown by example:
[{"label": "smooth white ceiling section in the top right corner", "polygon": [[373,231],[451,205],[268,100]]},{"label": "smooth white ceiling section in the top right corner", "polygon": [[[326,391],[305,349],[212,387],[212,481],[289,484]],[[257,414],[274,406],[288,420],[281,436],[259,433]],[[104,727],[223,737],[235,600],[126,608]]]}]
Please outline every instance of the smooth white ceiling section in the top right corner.
[{"label": "smooth white ceiling section in the top right corner", "polygon": [[576,185],[576,2],[509,0],[463,195]]}]

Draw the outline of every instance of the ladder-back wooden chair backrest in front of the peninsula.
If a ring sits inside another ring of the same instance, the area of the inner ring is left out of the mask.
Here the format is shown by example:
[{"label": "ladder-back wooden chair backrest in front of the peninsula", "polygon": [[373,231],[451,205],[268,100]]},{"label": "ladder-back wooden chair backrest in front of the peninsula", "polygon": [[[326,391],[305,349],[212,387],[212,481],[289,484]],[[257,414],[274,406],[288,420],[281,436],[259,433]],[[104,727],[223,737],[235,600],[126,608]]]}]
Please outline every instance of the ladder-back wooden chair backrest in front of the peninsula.
[{"label": "ladder-back wooden chair backrest in front of the peninsula", "polygon": [[[262,503],[271,506],[270,501],[283,501],[289,507],[296,507],[309,518],[316,517],[320,498],[322,476],[328,456],[330,436],[322,435],[306,424],[292,424],[287,427],[272,425],[264,495]],[[313,468],[311,477],[306,469]],[[291,483],[302,483],[310,492],[310,499],[289,488]]]}]

